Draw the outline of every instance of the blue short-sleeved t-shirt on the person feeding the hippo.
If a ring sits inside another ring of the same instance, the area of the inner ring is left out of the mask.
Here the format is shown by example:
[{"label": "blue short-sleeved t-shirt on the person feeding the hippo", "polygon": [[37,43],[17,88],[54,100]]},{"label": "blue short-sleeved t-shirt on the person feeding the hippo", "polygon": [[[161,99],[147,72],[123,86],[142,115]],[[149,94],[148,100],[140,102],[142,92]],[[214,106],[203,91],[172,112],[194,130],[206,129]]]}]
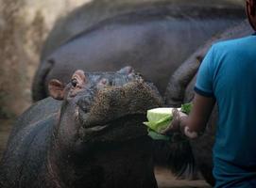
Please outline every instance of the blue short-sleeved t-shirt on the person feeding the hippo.
[{"label": "blue short-sleeved t-shirt on the person feeding the hippo", "polygon": [[256,187],[256,36],[214,44],[195,90],[218,106],[215,187]]}]

